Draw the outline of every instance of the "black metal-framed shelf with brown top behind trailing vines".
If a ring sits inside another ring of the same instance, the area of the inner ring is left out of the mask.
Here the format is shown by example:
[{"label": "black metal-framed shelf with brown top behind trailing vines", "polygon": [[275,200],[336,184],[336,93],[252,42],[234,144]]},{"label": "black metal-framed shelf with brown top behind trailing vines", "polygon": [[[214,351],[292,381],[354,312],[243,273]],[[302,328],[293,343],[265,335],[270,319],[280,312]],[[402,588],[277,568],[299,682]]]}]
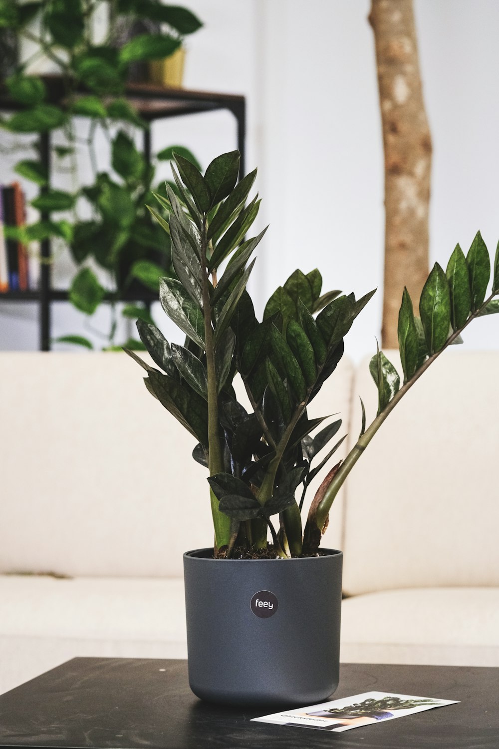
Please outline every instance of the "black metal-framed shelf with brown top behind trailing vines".
[{"label": "black metal-framed shelf with brown top behind trailing vines", "polygon": [[[61,76],[41,76],[46,85],[47,103],[64,106],[66,91]],[[86,94],[85,88],[80,88],[79,93]],[[181,115],[194,115],[200,112],[214,112],[225,109],[231,112],[236,120],[237,148],[241,154],[240,174],[245,173],[245,97],[238,94],[218,94],[209,91],[190,91],[186,88],[164,88],[150,83],[134,83],[126,85],[126,99],[138,110],[139,115],[147,122],[159,119],[179,117]],[[16,112],[23,109],[19,102],[11,99],[7,91],[0,89],[0,112]],[[50,133],[42,133],[39,139],[40,161],[49,173],[50,167]],[[150,130],[144,130],[143,142],[144,156],[149,161],[151,157]],[[46,218],[43,213],[41,218]],[[65,289],[51,288],[51,258],[52,250],[49,240],[40,243],[40,288],[37,291],[7,291],[0,294],[1,302],[37,302],[40,306],[40,351],[50,350],[51,341],[51,304],[53,302],[65,302],[68,292]],[[105,300],[114,298],[112,294],[106,294]],[[156,302],[158,295],[153,291],[126,292],[120,297],[123,302],[144,302],[147,304]]]}]

